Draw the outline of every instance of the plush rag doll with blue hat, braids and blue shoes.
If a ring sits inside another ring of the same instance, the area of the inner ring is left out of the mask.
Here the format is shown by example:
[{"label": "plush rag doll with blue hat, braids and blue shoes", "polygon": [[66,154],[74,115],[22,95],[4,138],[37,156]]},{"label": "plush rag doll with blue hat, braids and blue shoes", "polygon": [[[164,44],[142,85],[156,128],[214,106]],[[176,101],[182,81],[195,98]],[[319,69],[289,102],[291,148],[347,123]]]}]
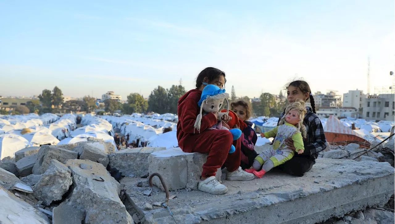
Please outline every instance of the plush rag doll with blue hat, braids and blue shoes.
[{"label": "plush rag doll with blue hat, braids and blue shoes", "polygon": [[[200,131],[200,126],[201,126],[201,118],[208,113],[218,113],[218,122],[213,125],[212,127],[209,128],[209,130],[212,129],[225,129],[229,130],[229,126],[221,120],[221,117],[224,114],[229,114],[229,108],[226,108],[226,112],[220,112],[220,109],[222,105],[224,104],[224,101],[227,103],[227,107],[229,107],[228,103],[228,97],[229,94],[225,93],[225,89],[220,89],[216,85],[206,85],[204,87],[200,100],[198,102],[198,106],[200,107],[200,113],[196,117],[196,122],[194,127]],[[232,133],[233,140],[239,139],[241,136],[241,130],[240,129],[230,129],[229,130]],[[235,146],[231,145],[229,149],[229,153],[235,152],[236,148]]]}]

